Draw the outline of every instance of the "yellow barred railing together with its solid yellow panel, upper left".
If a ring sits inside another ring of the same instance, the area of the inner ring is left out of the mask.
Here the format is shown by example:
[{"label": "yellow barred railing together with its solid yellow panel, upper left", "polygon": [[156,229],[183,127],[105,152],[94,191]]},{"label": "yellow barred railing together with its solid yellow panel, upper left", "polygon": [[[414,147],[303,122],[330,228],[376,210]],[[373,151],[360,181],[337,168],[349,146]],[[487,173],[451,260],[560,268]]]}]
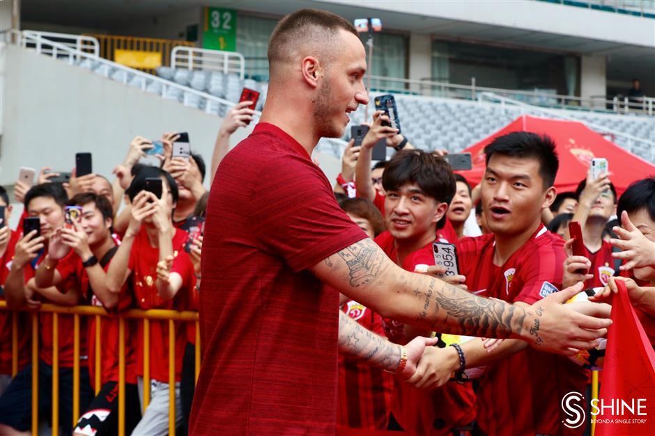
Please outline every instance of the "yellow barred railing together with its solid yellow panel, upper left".
[{"label": "yellow barred railing together with its solid yellow panel, upper left", "polygon": [[100,57],[114,60],[143,72],[155,73],[155,67],[171,65],[171,51],[178,45],[195,47],[195,42],[166,40],[160,38],[139,38],[123,35],[100,35],[87,33],[100,42]]}]

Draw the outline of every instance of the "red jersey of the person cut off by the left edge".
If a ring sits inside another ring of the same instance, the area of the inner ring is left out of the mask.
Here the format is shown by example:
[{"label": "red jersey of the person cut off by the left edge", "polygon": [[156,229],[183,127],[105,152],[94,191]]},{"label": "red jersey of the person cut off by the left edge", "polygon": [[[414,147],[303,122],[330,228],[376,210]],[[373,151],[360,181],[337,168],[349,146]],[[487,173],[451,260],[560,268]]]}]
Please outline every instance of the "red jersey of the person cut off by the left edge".
[{"label": "red jersey of the person cut off by the left edge", "polygon": [[[9,242],[7,248],[0,257],[0,286],[4,286],[9,271],[11,269],[11,262],[13,261],[16,243],[20,240],[18,232],[10,231]],[[0,300],[4,300],[4,293],[0,296]],[[0,374],[11,375],[11,317],[17,316],[16,325],[18,330],[18,370],[20,371],[23,366],[29,362],[29,338],[30,338],[30,325],[29,317],[26,312],[9,312],[7,310],[0,310]]]}]

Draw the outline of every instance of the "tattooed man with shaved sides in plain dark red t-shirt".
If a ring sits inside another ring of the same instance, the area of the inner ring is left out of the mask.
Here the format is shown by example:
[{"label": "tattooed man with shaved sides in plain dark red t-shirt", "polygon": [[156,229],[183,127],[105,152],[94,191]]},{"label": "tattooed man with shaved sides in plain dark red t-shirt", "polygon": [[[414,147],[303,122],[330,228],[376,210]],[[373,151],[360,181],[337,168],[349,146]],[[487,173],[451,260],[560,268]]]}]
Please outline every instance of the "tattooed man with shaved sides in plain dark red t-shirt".
[{"label": "tattooed man with shaved sides in plain dark red t-shirt", "polygon": [[[529,330],[537,321],[544,348],[560,353],[571,346],[562,328],[604,334],[608,322],[562,307],[572,292],[546,298],[537,315],[403,271],[339,209],[310,156],[322,136],[342,136],[347,113],[368,102],[366,52],[350,22],[299,10],[276,26],[268,58],[261,121],[222,160],[210,191],[203,362],[190,434],[334,433],[337,345],[406,378],[413,373],[422,350],[390,346],[345,314],[337,334],[339,296],[322,282],[425,329],[535,344]],[[461,304],[445,309],[449,298]]]}]

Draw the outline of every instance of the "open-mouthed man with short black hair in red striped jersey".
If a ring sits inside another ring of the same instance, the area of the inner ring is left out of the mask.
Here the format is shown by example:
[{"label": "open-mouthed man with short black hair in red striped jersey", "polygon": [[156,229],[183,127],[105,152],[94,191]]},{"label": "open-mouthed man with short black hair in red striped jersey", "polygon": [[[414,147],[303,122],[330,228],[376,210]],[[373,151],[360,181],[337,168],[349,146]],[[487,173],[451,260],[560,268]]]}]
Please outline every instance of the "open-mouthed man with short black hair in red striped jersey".
[{"label": "open-mouthed man with short black hair in red striped jersey", "polygon": [[[541,211],[555,199],[558,159],[546,136],[514,132],[485,148],[481,202],[492,234],[464,238],[457,246],[469,291],[534,305],[562,286],[564,241],[541,224]],[[576,286],[576,289],[581,289]],[[534,307],[533,306],[533,307]],[[532,329],[540,342],[539,326]],[[477,423],[488,435],[578,434],[562,425],[562,397],[584,392],[587,373],[567,357],[505,340],[491,353],[480,339],[461,345],[466,368],[486,366],[477,392]],[[458,355],[434,353],[441,371],[461,371]],[[417,372],[421,371],[419,368]],[[410,379],[410,381],[413,381]]]}]

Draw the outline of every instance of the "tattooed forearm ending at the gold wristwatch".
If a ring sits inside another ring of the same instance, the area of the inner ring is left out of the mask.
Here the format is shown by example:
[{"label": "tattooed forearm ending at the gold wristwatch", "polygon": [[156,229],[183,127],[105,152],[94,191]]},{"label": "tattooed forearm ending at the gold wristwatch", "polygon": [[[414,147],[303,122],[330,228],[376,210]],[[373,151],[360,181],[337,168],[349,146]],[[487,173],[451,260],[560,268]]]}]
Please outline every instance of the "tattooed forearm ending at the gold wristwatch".
[{"label": "tattooed forearm ending at the gold wristwatch", "polygon": [[400,363],[401,348],[362,327],[339,311],[339,351],[369,362],[373,366],[394,371]]}]

